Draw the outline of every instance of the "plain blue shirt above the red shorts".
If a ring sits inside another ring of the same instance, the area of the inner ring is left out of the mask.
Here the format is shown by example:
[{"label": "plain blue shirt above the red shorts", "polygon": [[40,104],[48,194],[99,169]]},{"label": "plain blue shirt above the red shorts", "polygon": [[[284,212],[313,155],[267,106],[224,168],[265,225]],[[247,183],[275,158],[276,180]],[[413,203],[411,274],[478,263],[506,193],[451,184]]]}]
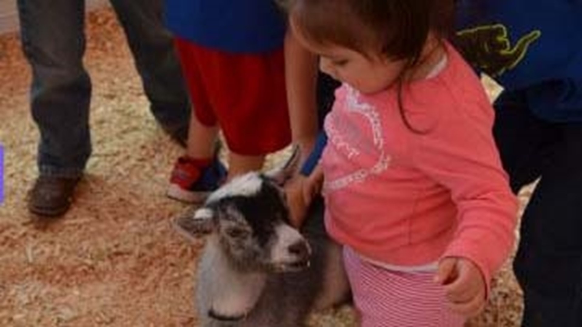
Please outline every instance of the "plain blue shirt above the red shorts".
[{"label": "plain blue shirt above the red shorts", "polygon": [[286,30],[274,0],[166,0],[165,20],[178,37],[235,53],[281,48]]}]

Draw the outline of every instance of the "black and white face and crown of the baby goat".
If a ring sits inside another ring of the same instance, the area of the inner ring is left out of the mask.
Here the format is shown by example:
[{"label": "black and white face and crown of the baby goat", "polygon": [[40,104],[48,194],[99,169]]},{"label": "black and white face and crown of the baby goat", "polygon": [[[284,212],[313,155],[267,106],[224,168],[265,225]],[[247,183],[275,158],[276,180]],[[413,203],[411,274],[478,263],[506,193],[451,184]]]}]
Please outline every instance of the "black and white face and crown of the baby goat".
[{"label": "black and white face and crown of the baby goat", "polygon": [[[250,173],[234,179],[212,194],[207,207],[199,209],[196,215],[210,215],[208,207],[217,211],[225,243],[235,257],[255,255],[276,271],[308,265],[310,247],[299,231],[289,225],[284,194],[268,177]],[[267,248],[269,251],[265,251]]]}]

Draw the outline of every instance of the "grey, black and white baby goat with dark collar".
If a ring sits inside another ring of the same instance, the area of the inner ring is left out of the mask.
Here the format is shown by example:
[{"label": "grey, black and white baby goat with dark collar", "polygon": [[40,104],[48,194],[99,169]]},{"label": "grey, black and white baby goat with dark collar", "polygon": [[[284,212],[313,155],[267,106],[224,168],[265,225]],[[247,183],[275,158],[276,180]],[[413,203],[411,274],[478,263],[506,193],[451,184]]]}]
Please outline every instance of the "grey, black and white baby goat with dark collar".
[{"label": "grey, black and white baby goat with dark collar", "polygon": [[345,301],[342,255],[325,233],[323,210],[319,198],[300,233],[289,225],[282,188],[248,173],[176,219],[187,236],[210,232],[198,263],[200,325],[298,327],[312,310]]}]

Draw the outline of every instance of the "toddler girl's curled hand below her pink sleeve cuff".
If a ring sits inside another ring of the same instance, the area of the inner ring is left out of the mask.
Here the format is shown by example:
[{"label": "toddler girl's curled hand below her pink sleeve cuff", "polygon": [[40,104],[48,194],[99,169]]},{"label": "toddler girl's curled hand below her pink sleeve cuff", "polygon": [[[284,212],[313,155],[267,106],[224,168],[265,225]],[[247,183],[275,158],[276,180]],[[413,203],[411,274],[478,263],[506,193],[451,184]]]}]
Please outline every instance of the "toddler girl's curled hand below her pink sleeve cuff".
[{"label": "toddler girl's curled hand below her pink sleeve cuff", "polygon": [[481,271],[465,258],[443,258],[438,265],[435,282],[445,288],[451,310],[473,317],[485,307],[485,281]]}]

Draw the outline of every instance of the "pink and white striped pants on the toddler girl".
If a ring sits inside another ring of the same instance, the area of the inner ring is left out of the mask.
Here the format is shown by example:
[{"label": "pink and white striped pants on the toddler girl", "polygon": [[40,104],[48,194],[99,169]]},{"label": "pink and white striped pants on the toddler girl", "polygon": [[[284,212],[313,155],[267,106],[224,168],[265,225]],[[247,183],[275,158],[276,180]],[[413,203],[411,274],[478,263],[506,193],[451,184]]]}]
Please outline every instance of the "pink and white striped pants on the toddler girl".
[{"label": "pink and white striped pants on the toddler girl", "polygon": [[362,327],[460,327],[433,272],[390,271],[344,247],[344,264]]}]

